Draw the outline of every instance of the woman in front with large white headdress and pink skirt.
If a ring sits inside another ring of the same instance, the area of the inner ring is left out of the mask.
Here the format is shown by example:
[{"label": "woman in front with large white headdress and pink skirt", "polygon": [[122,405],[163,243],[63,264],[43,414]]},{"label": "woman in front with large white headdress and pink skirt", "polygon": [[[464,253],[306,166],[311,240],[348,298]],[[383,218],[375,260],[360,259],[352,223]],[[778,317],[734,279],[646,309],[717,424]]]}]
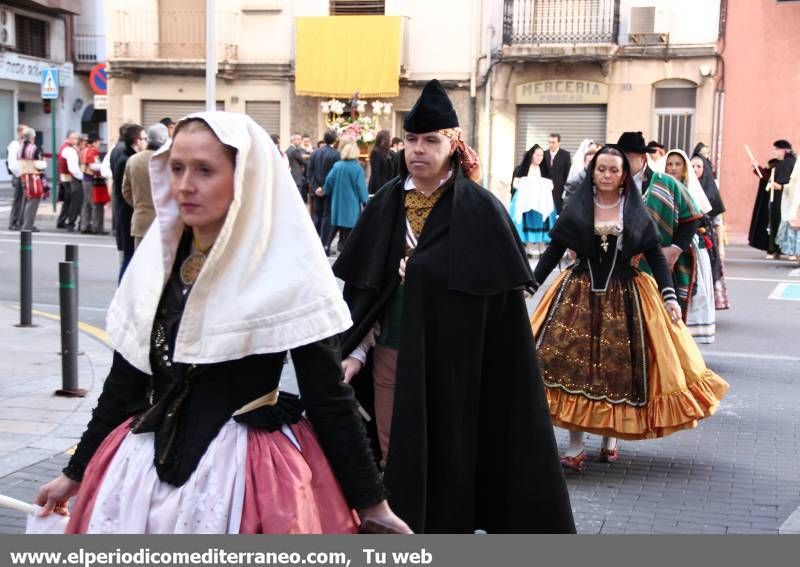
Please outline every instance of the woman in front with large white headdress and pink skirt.
[{"label": "woman in front with large white headdress and pink skirt", "polygon": [[[150,176],[110,374],[37,503],[64,514],[77,494],[69,533],[407,532],[342,383],[347,306],[266,132],[191,115]],[[287,351],[302,404],[278,392]]]}]

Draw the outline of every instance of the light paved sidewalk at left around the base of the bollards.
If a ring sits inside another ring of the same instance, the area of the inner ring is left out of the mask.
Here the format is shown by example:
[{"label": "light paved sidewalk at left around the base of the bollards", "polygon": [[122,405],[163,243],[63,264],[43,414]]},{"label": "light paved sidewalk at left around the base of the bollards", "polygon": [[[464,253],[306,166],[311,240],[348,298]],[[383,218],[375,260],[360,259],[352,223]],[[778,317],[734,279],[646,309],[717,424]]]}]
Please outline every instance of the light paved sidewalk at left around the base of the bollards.
[{"label": "light paved sidewalk at left around the base of the bollards", "polygon": [[[34,315],[31,328],[15,327],[19,310],[0,304],[0,494],[31,501],[43,480],[66,463],[91,416],[111,365],[111,351],[80,333],[78,381],[85,398],[55,396],[61,387],[58,321]],[[35,474],[31,471],[35,471]],[[24,518],[0,508],[0,533],[18,533]]]}]

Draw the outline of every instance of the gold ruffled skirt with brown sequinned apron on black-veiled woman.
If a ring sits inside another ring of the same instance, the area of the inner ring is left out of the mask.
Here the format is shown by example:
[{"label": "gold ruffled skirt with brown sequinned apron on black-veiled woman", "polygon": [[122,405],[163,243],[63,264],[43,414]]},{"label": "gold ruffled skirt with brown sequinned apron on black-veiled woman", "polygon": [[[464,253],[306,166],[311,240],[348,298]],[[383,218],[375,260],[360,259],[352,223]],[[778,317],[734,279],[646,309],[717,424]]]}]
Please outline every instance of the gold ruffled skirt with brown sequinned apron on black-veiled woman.
[{"label": "gold ruffled skirt with brown sequinned apron on black-veiled woman", "polygon": [[655,281],[565,270],[531,318],[553,424],[621,439],[653,439],[713,415],[728,383],[709,370]]}]

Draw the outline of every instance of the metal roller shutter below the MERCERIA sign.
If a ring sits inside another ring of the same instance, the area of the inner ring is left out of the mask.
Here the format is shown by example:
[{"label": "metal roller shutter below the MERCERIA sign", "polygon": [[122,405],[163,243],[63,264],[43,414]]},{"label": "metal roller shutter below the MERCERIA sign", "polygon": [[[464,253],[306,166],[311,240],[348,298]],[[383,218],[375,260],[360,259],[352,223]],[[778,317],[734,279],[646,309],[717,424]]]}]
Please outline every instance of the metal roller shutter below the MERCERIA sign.
[{"label": "metal roller shutter below the MERCERIA sign", "polygon": [[561,147],[574,154],[584,138],[606,142],[604,104],[536,104],[517,106],[516,161],[534,144],[547,151],[551,132],[561,134]]}]

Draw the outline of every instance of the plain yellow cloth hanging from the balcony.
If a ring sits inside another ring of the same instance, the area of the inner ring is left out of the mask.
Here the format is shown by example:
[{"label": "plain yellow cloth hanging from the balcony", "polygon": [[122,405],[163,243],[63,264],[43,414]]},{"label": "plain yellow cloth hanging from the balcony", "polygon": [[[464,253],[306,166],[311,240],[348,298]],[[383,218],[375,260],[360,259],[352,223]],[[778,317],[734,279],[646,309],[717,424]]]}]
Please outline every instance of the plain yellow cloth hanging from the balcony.
[{"label": "plain yellow cloth hanging from the balcony", "polygon": [[397,96],[402,20],[401,16],[297,18],[295,93]]}]

